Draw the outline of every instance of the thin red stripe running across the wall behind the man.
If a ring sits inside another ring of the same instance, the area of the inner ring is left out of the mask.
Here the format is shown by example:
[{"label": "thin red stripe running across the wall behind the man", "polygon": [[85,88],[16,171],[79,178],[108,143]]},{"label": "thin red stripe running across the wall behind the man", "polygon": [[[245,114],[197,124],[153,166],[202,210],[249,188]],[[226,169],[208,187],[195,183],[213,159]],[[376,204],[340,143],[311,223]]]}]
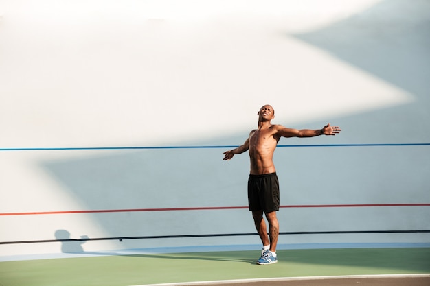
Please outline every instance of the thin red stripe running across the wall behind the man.
[{"label": "thin red stripe running across the wall behind the man", "polygon": [[[381,206],[430,206],[430,204],[302,204],[280,206],[280,208],[357,208],[357,207],[381,207]],[[131,208],[118,210],[87,210],[87,211],[40,211],[26,213],[0,213],[0,216],[12,215],[65,215],[73,213],[126,213],[126,212],[148,212],[148,211],[212,211],[226,209],[244,209],[247,206],[213,206],[199,208]]]}]

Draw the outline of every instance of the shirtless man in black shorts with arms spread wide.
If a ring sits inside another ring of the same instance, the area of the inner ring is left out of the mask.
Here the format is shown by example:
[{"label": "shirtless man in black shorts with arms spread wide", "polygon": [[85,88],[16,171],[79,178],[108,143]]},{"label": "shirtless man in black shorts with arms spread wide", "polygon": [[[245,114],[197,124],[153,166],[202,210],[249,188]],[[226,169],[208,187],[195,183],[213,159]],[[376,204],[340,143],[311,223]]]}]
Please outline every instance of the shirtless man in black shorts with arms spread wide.
[{"label": "shirtless man in black shorts with arms spread wide", "polygon": [[[249,138],[239,147],[224,152],[223,160],[230,160],[235,154],[242,154],[249,150],[251,171],[248,179],[248,203],[252,212],[254,224],[263,249],[257,263],[260,265],[277,263],[276,244],[278,243],[279,224],[276,211],[279,211],[279,183],[273,165],[273,152],[281,137],[314,137],[319,135],[335,135],[341,130],[328,123],[324,128],[317,130],[286,128],[281,125],[272,125],[275,110],[265,105],[258,112],[258,128],[249,133]],[[263,213],[269,223],[269,236]],[[269,240],[270,238],[270,240]]]}]

